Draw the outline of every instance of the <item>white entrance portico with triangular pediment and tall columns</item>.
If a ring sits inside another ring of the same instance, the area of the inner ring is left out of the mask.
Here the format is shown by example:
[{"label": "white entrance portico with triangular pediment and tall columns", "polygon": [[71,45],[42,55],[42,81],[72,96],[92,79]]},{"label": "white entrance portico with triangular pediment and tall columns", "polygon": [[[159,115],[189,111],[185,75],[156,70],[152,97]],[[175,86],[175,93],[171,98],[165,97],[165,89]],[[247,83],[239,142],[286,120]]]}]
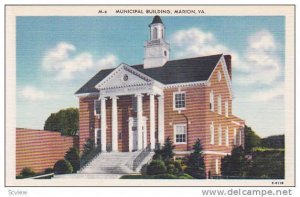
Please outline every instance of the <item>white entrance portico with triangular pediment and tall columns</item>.
[{"label": "white entrance portico with triangular pediment and tall columns", "polygon": [[[118,147],[118,99],[121,96],[136,97],[136,117],[128,117],[128,150],[142,150],[150,142],[151,150],[156,142],[164,142],[164,100],[163,85],[138,70],[121,64],[100,83],[95,86],[99,90],[101,101],[101,150],[107,151],[107,133],[111,132],[111,150],[117,152]],[[143,98],[149,96],[149,117],[143,111]],[[111,131],[107,127],[107,100],[111,99]],[[158,111],[155,112],[155,99],[158,101]],[[158,139],[155,139],[155,114],[158,114]],[[149,121],[149,131],[147,130]],[[149,140],[147,139],[149,133]]]}]

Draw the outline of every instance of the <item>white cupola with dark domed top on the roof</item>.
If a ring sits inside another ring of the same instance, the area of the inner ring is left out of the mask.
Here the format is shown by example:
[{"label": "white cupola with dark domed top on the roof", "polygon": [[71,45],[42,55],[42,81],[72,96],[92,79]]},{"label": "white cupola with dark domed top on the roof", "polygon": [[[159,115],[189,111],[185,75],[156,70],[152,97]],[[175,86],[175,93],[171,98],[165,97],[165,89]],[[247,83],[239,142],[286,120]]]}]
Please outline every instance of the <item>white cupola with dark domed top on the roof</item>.
[{"label": "white cupola with dark domed top on the roof", "polygon": [[149,24],[150,40],[145,44],[144,68],[163,66],[169,60],[170,45],[165,41],[165,26],[159,16]]}]

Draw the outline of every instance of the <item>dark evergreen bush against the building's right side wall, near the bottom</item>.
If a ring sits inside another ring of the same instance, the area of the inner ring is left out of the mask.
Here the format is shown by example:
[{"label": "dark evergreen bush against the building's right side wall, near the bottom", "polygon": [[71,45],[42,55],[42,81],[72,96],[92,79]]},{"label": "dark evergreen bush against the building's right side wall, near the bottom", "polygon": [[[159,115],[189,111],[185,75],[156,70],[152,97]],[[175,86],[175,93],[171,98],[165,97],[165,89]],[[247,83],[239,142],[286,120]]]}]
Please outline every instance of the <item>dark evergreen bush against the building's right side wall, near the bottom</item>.
[{"label": "dark evergreen bush against the building's right side wall, near the bottom", "polygon": [[246,176],[248,165],[243,147],[235,147],[232,149],[230,156],[227,155],[221,160],[222,175],[244,177]]}]

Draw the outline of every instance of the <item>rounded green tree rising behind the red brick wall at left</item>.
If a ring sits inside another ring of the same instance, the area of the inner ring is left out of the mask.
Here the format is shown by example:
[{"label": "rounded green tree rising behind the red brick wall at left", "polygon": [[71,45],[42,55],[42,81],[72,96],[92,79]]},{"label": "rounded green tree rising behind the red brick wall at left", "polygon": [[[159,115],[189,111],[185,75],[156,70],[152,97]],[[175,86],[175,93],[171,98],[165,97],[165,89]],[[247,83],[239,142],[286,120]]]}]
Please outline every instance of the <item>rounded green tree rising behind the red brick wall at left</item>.
[{"label": "rounded green tree rising behind the red brick wall at left", "polygon": [[45,121],[44,130],[59,131],[62,135],[76,135],[78,125],[78,109],[68,108],[52,113]]}]

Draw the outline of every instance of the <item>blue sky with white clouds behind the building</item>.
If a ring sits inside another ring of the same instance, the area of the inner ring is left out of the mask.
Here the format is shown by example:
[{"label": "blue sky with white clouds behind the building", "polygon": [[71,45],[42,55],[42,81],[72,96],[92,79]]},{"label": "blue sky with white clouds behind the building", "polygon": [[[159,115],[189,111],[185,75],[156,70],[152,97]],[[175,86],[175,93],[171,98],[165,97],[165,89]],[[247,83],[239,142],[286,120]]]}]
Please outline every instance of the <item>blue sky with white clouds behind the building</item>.
[{"label": "blue sky with white clouds behind the building", "polygon": [[[231,54],[233,111],[261,136],[284,133],[284,17],[162,17],[171,59]],[[142,63],[145,17],[17,17],[17,127],[78,107],[96,72]]]}]

